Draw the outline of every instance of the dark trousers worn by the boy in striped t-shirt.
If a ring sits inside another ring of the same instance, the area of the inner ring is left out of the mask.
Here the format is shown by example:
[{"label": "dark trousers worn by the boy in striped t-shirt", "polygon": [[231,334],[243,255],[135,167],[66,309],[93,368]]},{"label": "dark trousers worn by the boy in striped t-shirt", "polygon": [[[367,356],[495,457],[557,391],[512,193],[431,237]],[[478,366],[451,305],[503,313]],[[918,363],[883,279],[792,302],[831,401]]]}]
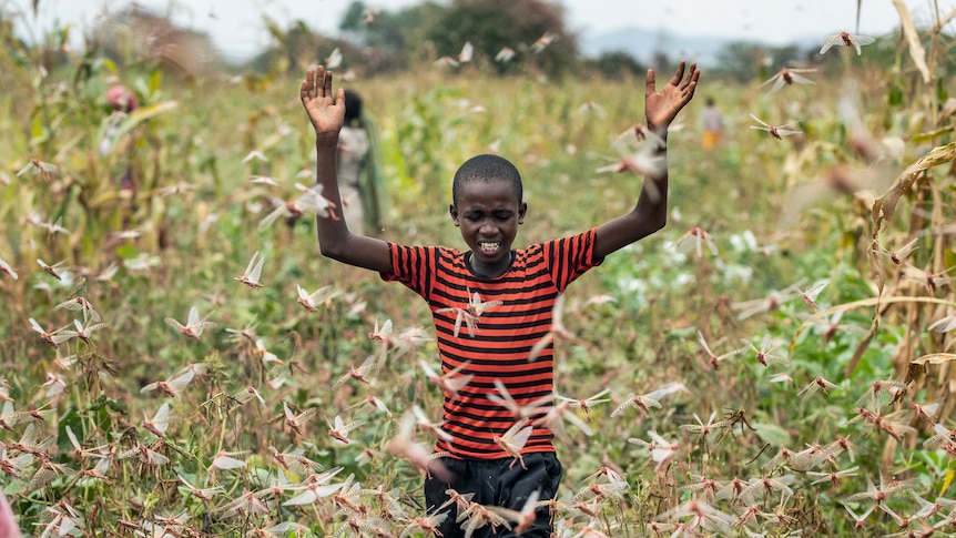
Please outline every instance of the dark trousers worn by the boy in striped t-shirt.
[{"label": "dark trousers worn by the boy in striped t-shirt", "polygon": [[[520,461],[512,458],[505,459],[452,459],[441,458],[441,463],[451,473],[451,481],[446,483],[439,478],[425,479],[425,503],[429,514],[448,500],[449,488],[461,495],[475,494],[472,503],[485,506],[500,506],[511,510],[520,511],[525,507],[528,496],[540,490],[538,500],[553,499],[558,494],[558,484],[561,481],[561,463],[555,453],[531,453],[522,455],[525,458],[523,469]],[[511,464],[515,464],[511,466]],[[462,526],[467,519],[456,522],[458,508],[452,504],[444,508],[448,517],[439,527],[444,538],[458,538],[465,536]],[[547,506],[537,509],[535,525],[521,532],[522,538],[550,538],[551,511]],[[510,538],[517,536],[513,530],[499,526],[492,531],[490,526],[477,529],[472,538]]]}]

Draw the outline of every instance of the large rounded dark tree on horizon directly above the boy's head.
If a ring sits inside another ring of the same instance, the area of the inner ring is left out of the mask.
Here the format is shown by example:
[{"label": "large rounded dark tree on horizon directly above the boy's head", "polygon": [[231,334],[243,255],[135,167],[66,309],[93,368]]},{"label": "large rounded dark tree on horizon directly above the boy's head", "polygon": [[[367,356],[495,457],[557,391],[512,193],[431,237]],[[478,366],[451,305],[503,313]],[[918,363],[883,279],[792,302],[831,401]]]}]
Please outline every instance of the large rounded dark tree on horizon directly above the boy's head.
[{"label": "large rounded dark tree on horizon directly above the boy's head", "polygon": [[[426,28],[425,38],[437,57],[455,57],[470,42],[475,61],[492,63],[501,72],[518,65],[561,74],[578,57],[577,37],[567,29],[562,9],[542,0],[454,0]],[[516,58],[495,62],[506,47]]]}]

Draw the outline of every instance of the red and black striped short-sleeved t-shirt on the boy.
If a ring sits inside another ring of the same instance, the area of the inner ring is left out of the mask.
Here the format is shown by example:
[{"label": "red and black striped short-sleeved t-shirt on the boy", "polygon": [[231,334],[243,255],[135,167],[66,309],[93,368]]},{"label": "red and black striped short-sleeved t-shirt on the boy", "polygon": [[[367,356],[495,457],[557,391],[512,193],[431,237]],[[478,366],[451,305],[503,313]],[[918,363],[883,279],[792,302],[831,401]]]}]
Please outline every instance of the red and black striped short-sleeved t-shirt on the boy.
[{"label": "red and black striped short-sleeved t-shirt on the boy", "polygon": [[[441,372],[464,365],[460,375],[474,374],[456,398],[445,394],[445,430],[452,440],[439,440],[437,450],[459,459],[497,459],[509,455],[492,440],[516,423],[513,414],[488,398],[498,395],[500,379],[519,405],[551,397],[553,389],[552,346],[528,362],[535,344],[551,328],[551,309],[558,294],[589,268],[593,258],[596,230],[526,250],[513,251],[511,266],[501,276],[484,278],[468,265],[470,252],[440,246],[389,244],[391,271],[385,281],[398,281],[428,302],[435,319]],[[454,308],[466,308],[478,293],[482,302],[501,301],[477,319],[475,335],[460,324]],[[450,311],[438,312],[445,308]],[[551,430],[536,427],[522,453],[553,451]]]}]

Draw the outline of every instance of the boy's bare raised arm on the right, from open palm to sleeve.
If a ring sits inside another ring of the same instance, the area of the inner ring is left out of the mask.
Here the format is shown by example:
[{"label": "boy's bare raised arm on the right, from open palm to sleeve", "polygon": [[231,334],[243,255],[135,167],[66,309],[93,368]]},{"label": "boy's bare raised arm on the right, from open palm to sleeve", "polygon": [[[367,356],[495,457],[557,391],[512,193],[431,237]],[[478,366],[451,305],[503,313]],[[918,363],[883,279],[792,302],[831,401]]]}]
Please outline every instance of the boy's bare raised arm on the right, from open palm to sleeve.
[{"label": "boy's bare raised arm on the right, from open palm to sleeve", "polygon": [[[654,151],[658,156],[664,159],[667,159],[668,151],[668,126],[678,115],[678,112],[694,97],[700,77],[696,63],[691,63],[687,77],[684,77],[684,68],[685,63],[681,61],[677,73],[660,91],[655,88],[654,71],[648,70],[644,114],[648,128],[660,136],[659,141],[649,141],[648,143],[660,143],[660,148],[654,149]],[[598,226],[594,257],[604,257],[664,227],[668,221],[667,164],[661,170],[659,174],[648,174],[644,177],[638,203],[630,213]]]}]

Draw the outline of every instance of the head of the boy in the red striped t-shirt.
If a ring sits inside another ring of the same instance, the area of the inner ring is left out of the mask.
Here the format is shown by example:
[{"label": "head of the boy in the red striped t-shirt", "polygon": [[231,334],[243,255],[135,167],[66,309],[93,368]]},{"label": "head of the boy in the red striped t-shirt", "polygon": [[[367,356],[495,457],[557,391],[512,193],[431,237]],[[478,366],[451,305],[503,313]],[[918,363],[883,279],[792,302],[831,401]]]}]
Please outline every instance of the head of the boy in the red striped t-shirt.
[{"label": "head of the boy in the red striped t-shirt", "polygon": [[507,270],[528,209],[522,195],[518,169],[498,155],[471,158],[455,173],[449,213],[471,250],[476,272],[498,275]]}]

